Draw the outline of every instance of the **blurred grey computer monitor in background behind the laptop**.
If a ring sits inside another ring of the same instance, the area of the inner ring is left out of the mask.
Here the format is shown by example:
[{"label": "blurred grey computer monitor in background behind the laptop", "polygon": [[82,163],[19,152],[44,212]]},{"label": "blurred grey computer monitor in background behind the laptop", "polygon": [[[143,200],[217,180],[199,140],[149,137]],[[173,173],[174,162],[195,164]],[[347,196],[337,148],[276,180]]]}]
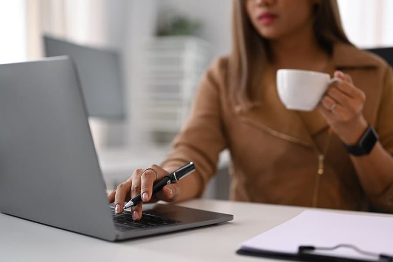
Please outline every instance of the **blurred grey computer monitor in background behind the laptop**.
[{"label": "blurred grey computer monitor in background behind the laptop", "polygon": [[75,62],[88,114],[91,117],[122,119],[124,89],[116,52],[43,36],[46,56],[68,55]]}]

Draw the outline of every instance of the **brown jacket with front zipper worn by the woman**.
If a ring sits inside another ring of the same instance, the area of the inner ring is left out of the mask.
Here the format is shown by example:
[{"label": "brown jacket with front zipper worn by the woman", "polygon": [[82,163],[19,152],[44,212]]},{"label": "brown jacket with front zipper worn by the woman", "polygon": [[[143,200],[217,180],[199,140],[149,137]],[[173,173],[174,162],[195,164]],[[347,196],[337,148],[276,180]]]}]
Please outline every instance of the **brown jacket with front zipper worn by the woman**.
[{"label": "brown jacket with front zipper worn by the woman", "polygon": [[[329,129],[317,110],[287,110],[277,96],[274,73],[264,74],[258,93],[260,106],[242,110],[231,104],[227,60],[215,60],[203,76],[190,118],[162,165],[180,166],[193,161],[197,167],[194,176],[200,179],[200,185],[195,186],[199,186],[201,195],[216,172],[219,152],[229,148],[232,200],[368,210],[370,201],[348,153],[334,134],[325,152],[324,172],[317,174],[318,156],[326,146]],[[354,84],[365,92],[364,117],[376,128],[381,144],[391,154],[390,67],[375,55],[336,44],[326,71],[333,74],[335,70],[350,74]],[[393,212],[393,185],[373,205]]]}]

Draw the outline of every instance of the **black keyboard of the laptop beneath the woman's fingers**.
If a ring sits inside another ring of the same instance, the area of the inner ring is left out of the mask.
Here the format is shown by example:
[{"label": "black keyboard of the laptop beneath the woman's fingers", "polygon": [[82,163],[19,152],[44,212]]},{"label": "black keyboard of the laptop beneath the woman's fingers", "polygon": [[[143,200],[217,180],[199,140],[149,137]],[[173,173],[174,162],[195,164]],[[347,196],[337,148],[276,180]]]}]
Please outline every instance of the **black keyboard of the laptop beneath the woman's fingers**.
[{"label": "black keyboard of the laptop beneath the woman's fingers", "polygon": [[111,208],[111,210],[116,229],[120,231],[159,227],[180,223],[180,221],[170,220],[166,219],[165,217],[145,213],[142,213],[142,219],[140,221],[133,221],[129,212],[115,214],[115,209]]}]

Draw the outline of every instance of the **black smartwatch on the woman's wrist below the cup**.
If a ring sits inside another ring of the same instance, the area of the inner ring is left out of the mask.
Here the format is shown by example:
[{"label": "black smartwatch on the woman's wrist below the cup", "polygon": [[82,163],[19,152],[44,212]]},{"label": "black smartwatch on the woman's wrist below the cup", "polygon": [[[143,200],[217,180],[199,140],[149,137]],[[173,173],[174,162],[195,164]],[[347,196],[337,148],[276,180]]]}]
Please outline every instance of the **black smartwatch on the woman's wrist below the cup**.
[{"label": "black smartwatch on the woman's wrist below the cup", "polygon": [[355,145],[344,144],[345,149],[354,156],[368,155],[378,141],[378,134],[373,127],[368,125],[367,129]]}]

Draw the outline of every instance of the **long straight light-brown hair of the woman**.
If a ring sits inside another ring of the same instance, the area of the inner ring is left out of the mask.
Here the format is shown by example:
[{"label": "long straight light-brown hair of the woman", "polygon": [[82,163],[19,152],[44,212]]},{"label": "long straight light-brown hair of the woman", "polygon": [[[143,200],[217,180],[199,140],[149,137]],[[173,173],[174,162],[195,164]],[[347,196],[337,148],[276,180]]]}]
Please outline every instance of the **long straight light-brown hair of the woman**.
[{"label": "long straight light-brown hair of the woman", "polygon": [[[233,1],[232,52],[229,56],[231,100],[244,107],[254,103],[252,89],[260,80],[260,70],[268,59],[268,40],[254,29],[246,13],[245,0]],[[314,6],[314,32],[319,45],[332,53],[333,43],[350,45],[341,25],[336,0],[320,0]]]}]

